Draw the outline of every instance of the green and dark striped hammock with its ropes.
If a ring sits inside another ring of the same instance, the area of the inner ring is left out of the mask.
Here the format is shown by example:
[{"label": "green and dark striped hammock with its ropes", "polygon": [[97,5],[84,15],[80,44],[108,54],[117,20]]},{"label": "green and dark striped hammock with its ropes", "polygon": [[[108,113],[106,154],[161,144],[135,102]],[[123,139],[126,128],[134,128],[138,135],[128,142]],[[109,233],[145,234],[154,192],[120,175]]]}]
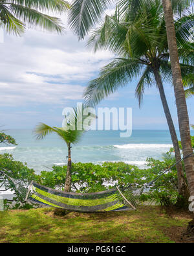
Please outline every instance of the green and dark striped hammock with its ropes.
[{"label": "green and dark striped hammock with its ropes", "polygon": [[[158,178],[175,167],[177,163],[191,156],[194,156],[194,153],[182,157],[169,169],[162,172],[153,181],[144,184],[141,188],[136,187],[136,185],[129,185],[129,187],[115,187],[107,191],[78,193],[51,189],[34,181],[16,180],[8,176],[3,170],[0,171],[0,178],[5,176],[6,180],[14,185],[14,190],[23,203],[28,201],[32,204],[88,213],[128,211],[136,210],[139,205],[142,205],[140,196],[146,194]],[[152,204],[156,204],[154,199],[144,202],[144,205]]]}]

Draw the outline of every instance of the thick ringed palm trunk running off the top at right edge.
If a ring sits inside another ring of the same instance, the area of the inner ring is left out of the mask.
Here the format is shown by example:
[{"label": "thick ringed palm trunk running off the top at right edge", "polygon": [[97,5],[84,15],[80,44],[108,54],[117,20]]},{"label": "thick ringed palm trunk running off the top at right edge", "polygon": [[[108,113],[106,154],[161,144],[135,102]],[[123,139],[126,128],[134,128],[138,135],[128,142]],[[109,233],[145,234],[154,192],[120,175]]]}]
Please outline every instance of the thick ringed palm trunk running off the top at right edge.
[{"label": "thick ringed palm trunk running off the top at right edge", "polygon": [[[190,1],[191,3],[193,1]],[[167,42],[169,45],[169,54],[171,58],[171,69],[173,73],[173,85],[175,99],[177,104],[178,124],[181,137],[182,152],[184,157],[193,154],[191,145],[188,109],[184,95],[181,69],[178,59],[177,40],[175,35],[175,21],[173,19],[173,10],[170,0],[162,0],[164,7],[164,16],[166,20]],[[193,26],[194,27],[194,26]],[[194,196],[194,157],[187,157],[184,160],[186,176],[190,195]],[[194,211],[194,209],[193,209]],[[193,220],[194,222],[194,220]],[[193,225],[193,224],[192,224]]]}]

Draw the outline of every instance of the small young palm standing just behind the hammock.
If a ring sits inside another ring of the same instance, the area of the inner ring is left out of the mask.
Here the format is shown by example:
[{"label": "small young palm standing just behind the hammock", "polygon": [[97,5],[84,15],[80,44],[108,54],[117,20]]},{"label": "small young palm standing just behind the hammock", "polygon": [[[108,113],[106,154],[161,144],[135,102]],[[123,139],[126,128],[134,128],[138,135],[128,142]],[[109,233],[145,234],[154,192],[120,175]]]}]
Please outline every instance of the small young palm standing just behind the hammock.
[{"label": "small young palm standing just behind the hammock", "polygon": [[[87,113],[87,114],[86,114]],[[95,118],[94,113],[89,113],[86,107],[79,106],[74,108],[69,116],[65,116],[63,127],[51,127],[47,124],[40,123],[34,129],[34,134],[37,139],[43,139],[48,134],[57,134],[63,141],[65,141],[68,149],[67,174],[65,178],[65,191],[71,189],[71,145],[80,141],[83,132],[87,131]]]}]

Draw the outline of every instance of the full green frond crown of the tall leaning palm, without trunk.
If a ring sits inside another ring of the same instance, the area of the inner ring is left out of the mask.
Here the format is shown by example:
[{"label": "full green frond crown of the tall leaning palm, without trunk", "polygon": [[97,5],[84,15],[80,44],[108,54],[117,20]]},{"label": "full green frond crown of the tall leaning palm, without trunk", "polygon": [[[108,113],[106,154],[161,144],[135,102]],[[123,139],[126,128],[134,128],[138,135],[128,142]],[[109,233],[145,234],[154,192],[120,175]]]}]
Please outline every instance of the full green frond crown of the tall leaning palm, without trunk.
[{"label": "full green frond crown of the tall leaning palm, without trunk", "polygon": [[[138,3],[135,10],[131,8],[134,3]],[[182,12],[185,7],[183,5],[180,7]],[[126,13],[122,12],[121,15],[121,10],[124,8],[126,8]],[[162,80],[172,82],[162,1],[121,0],[118,3],[118,9],[119,14],[116,12],[111,17],[106,16],[105,22],[100,28],[94,30],[89,40],[89,45],[92,45],[95,51],[102,48],[109,49],[120,56],[106,65],[98,78],[89,82],[83,96],[85,102],[93,106],[114,93],[118,87],[127,85],[132,78],[138,75],[141,75],[141,78],[136,87],[136,97],[141,104],[144,87],[150,86],[153,82],[151,76],[154,64],[159,64]],[[175,9],[174,11],[177,12]],[[177,37],[180,36],[178,33],[183,33],[193,24],[191,19],[193,19],[191,14],[189,17],[184,15],[176,19]],[[186,77],[193,72],[193,49],[191,47],[191,43],[188,43],[186,49],[185,40],[184,43],[181,41],[178,44],[182,76],[185,81]],[[147,67],[142,74],[144,65],[149,65],[150,69]],[[188,85],[188,81],[186,84]]]}]

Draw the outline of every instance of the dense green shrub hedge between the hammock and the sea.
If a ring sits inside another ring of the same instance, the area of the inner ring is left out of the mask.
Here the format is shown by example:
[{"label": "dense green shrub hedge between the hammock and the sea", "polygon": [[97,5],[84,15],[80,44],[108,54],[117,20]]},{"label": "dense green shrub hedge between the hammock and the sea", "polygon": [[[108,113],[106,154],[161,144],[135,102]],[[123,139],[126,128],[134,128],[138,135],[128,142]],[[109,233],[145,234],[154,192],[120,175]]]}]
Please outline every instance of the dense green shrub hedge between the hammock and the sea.
[{"label": "dense green shrub hedge between the hammock and the sea", "polygon": [[[194,137],[192,137],[194,148]],[[180,145],[181,147],[181,145]],[[128,165],[123,162],[112,163],[105,162],[102,165],[93,163],[72,163],[72,191],[76,192],[96,192],[111,189],[114,185],[121,186],[133,185],[142,187],[150,181],[155,180],[175,163],[173,148],[165,154],[163,161],[153,158],[147,159],[147,168],[138,169],[134,165]],[[10,154],[0,155],[0,169],[12,178],[30,182],[34,180],[47,187],[63,189],[67,174],[67,165],[63,167],[54,166],[52,171],[42,171],[41,174],[35,174],[33,169],[29,169],[27,164],[15,161]],[[5,180],[0,176],[0,190],[14,190],[12,182]],[[142,200],[154,198],[161,205],[175,205],[178,200],[177,192],[177,169],[173,167],[169,172],[159,177],[149,189],[149,194],[142,196]],[[14,198],[16,204],[14,208],[32,207],[23,203],[23,198],[16,191]],[[6,209],[10,208],[12,201],[5,200]],[[12,205],[13,207],[13,205]]]}]

